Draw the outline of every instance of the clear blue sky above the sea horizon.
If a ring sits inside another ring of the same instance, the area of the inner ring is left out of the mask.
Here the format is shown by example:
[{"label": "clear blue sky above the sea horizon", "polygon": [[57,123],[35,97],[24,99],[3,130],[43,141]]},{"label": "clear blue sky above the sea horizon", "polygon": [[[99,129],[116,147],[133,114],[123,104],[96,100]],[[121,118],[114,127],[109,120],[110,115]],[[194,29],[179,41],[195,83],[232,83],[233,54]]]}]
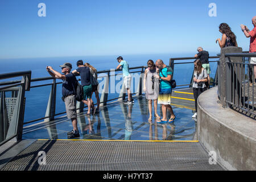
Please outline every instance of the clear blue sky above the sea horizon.
[{"label": "clear blue sky above the sea horizon", "polygon": [[[46,16],[39,16],[39,3]],[[216,16],[209,16],[210,3]],[[1,0],[0,59],[220,52],[220,23],[249,51],[256,1]]]}]

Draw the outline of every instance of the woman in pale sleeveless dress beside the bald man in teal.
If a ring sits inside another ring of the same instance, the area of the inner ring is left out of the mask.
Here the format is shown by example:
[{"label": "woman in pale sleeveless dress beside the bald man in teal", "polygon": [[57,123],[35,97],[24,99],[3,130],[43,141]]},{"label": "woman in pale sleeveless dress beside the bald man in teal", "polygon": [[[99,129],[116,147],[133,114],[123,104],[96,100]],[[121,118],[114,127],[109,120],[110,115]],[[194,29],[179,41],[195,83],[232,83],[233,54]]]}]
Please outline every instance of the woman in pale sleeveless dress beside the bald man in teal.
[{"label": "woman in pale sleeveless dress beside the bald man in teal", "polygon": [[159,95],[159,69],[155,67],[154,61],[147,61],[148,68],[144,72],[143,91],[146,93],[146,99],[148,100],[148,110],[150,117],[148,122],[152,121],[152,100],[154,100],[155,118],[160,118],[157,113],[158,110],[158,95]]}]

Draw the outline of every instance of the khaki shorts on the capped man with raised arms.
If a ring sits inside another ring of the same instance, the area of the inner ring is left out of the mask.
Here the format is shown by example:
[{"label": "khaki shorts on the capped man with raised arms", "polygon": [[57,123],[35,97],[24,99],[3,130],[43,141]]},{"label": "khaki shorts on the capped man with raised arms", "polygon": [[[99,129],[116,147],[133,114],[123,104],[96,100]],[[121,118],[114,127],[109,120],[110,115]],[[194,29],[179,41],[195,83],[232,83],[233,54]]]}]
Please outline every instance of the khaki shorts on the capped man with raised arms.
[{"label": "khaki shorts on the capped man with raised arms", "polygon": [[64,98],[67,117],[69,119],[76,118],[76,97],[68,96]]}]

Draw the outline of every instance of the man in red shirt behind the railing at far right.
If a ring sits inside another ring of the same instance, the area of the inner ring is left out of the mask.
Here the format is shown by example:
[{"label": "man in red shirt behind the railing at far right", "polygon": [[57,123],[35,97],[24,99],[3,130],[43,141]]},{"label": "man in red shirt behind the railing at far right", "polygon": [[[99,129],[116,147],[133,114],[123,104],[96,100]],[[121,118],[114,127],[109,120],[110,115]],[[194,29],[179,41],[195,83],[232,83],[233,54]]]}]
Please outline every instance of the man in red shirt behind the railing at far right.
[{"label": "man in red shirt behind the railing at far right", "polygon": [[[256,52],[256,16],[253,17],[253,19],[251,19],[251,23],[253,23],[253,30],[249,30],[246,26],[244,26],[243,24],[241,24],[241,28],[243,31],[243,34],[245,34],[246,38],[250,38],[250,51],[249,52]],[[250,63],[251,64],[255,64],[253,66],[253,72],[254,72],[254,79],[256,82],[256,57],[251,57],[250,59]],[[252,86],[253,84],[251,83],[250,86]]]}]

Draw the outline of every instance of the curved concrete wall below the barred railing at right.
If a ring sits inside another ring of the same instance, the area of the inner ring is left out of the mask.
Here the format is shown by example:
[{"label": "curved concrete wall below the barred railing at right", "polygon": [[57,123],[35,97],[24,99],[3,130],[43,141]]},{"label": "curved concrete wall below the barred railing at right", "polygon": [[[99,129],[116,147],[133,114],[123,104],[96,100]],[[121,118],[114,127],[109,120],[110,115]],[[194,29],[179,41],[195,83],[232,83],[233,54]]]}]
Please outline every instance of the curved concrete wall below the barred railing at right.
[{"label": "curved concrete wall below the barred railing at right", "polygon": [[256,170],[256,121],[217,104],[217,90],[199,96],[197,138],[226,169]]}]

